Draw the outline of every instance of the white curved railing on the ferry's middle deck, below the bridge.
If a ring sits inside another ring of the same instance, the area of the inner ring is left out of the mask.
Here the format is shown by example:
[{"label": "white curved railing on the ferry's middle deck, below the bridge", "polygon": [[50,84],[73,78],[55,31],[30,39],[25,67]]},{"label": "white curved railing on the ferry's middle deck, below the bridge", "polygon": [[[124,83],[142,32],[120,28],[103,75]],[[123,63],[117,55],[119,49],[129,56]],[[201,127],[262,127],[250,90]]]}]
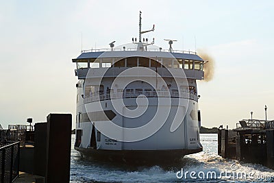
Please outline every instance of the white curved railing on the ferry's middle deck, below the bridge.
[{"label": "white curved railing on the ferry's middle deck, below the bridge", "polygon": [[90,103],[94,101],[103,101],[108,99],[124,99],[124,98],[136,98],[136,97],[171,97],[171,98],[182,98],[182,99],[192,99],[197,101],[197,94],[190,90],[180,90],[175,92],[169,92],[169,90],[144,90],[144,91],[125,91],[125,92],[106,92],[97,93],[92,96],[86,96],[84,98],[84,103]]}]

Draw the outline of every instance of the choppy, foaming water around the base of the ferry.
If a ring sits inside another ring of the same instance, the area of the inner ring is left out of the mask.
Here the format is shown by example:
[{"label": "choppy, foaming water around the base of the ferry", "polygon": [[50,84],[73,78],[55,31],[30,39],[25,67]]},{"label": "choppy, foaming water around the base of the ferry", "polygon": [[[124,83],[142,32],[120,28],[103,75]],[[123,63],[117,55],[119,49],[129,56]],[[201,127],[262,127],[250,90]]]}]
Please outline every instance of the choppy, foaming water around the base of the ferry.
[{"label": "choppy, foaming water around the base of the ferry", "polygon": [[274,182],[273,169],[219,156],[217,134],[201,134],[203,151],[185,156],[168,167],[160,164],[134,167],[86,160],[73,149],[74,140],[73,135],[71,182]]}]

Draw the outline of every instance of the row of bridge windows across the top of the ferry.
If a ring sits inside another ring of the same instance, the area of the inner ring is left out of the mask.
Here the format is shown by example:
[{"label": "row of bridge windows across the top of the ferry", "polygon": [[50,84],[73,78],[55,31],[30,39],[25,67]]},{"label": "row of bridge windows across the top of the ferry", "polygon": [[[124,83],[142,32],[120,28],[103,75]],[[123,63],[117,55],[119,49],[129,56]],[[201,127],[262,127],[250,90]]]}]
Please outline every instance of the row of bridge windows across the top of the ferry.
[{"label": "row of bridge windows across the top of the ferry", "polygon": [[[161,64],[162,63],[162,64]],[[203,62],[199,60],[183,60],[174,58],[100,58],[97,60],[81,60],[77,62],[77,69],[82,68],[105,68],[105,67],[166,67],[203,70]]]}]

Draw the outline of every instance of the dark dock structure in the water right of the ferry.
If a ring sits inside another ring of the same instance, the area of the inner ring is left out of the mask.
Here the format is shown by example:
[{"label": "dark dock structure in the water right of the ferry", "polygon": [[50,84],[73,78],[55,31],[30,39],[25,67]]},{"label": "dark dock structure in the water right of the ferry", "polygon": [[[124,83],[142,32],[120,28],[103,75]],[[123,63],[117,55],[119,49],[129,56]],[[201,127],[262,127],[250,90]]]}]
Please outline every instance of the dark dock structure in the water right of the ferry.
[{"label": "dark dock structure in the water right of the ferry", "polygon": [[218,130],[218,154],[274,169],[274,120],[243,119],[234,130]]}]

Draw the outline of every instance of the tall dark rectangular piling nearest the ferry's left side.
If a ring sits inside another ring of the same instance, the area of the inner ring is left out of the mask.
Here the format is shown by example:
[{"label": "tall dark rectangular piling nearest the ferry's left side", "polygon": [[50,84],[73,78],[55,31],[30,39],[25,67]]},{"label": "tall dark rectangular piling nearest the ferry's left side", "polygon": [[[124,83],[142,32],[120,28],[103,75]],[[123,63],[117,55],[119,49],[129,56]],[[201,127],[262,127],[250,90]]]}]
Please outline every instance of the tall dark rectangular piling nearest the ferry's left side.
[{"label": "tall dark rectangular piling nearest the ferry's left side", "polygon": [[47,117],[47,183],[70,180],[71,121],[71,114]]}]

